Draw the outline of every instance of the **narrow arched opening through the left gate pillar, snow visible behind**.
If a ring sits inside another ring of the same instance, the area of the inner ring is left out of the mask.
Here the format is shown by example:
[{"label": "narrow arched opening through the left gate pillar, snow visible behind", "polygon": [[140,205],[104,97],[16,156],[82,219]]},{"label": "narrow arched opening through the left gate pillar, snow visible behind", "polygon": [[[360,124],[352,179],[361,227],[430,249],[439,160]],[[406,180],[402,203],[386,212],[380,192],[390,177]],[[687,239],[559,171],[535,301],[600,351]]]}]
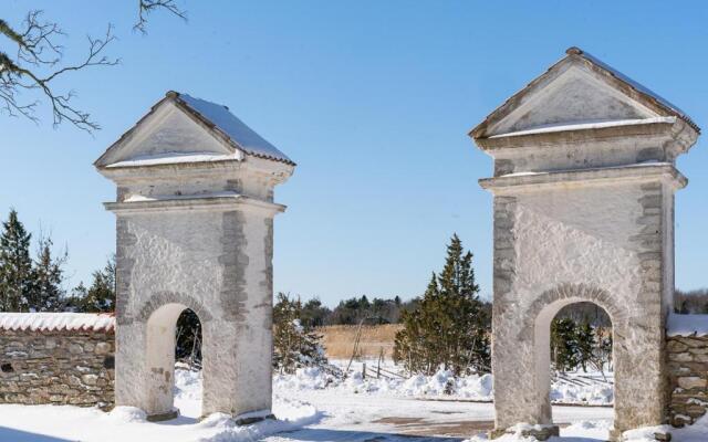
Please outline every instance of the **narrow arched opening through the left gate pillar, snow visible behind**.
[{"label": "narrow arched opening through the left gate pillar, snow visible behind", "polygon": [[[147,320],[148,418],[167,420],[201,414],[201,324],[179,303],[163,305]],[[177,376],[179,386],[175,388]],[[188,385],[189,389],[185,387]],[[179,409],[175,407],[175,396]]]}]

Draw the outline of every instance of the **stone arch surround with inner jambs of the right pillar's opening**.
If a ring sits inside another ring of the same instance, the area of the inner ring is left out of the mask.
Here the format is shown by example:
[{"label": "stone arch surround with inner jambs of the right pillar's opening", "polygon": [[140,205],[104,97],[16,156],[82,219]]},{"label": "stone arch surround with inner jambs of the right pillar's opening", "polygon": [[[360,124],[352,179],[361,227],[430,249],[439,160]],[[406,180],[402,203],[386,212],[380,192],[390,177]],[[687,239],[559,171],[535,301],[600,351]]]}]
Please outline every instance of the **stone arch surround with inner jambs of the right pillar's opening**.
[{"label": "stone arch surround with inner jambs of the right pillar's opening", "polygon": [[[625,306],[616,303],[607,291],[590,284],[565,283],[543,292],[529,306],[520,336],[521,334],[532,334],[533,336],[535,400],[540,404],[541,420],[544,423],[552,423],[550,399],[551,322],[563,307],[583,302],[593,303],[607,313],[612,323],[613,361],[616,368],[627,364],[626,351],[623,348],[626,348],[624,340],[628,327],[628,312]],[[615,370],[615,420],[622,420],[624,412],[623,404],[617,403],[617,398],[622,397],[622,394],[617,394],[617,390],[624,383],[622,372],[623,370]]]}]

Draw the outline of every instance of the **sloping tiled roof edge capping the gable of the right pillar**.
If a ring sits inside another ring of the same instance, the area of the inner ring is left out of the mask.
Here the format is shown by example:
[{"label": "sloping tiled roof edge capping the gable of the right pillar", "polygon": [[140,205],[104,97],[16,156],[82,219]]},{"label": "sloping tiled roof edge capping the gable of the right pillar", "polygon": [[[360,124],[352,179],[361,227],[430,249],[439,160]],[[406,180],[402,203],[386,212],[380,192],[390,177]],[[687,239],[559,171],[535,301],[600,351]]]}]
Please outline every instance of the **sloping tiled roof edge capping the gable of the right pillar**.
[{"label": "sloping tiled roof edge capping the gable of the right pillar", "polygon": [[584,63],[590,70],[597,73],[607,83],[614,85],[614,87],[622,91],[622,93],[627,96],[654,109],[659,115],[675,116],[683,119],[694,130],[700,134],[700,127],[698,127],[698,125],[685,112],[663,98],[660,95],[654,93],[648,87],[635,82],[622,72],[605,64],[580,48],[571,46],[565,51],[565,54],[566,55],[563,59],[549,67],[543,74],[535,77],[521,91],[509,97],[501,106],[491,112],[483,122],[469,131],[469,136],[475,139],[485,138],[487,136],[487,128],[511,113],[529,94],[537,90],[537,86],[545,83],[549,77],[554,75],[556,71],[561,70],[566,64],[579,62]]}]

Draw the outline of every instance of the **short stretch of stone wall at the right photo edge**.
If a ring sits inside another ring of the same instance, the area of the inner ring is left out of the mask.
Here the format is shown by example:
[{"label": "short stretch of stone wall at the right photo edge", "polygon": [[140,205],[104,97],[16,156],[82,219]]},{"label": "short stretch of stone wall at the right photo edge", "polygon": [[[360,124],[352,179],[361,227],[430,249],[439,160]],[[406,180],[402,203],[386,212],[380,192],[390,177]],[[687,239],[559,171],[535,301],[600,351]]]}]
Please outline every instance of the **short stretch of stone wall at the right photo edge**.
[{"label": "short stretch of stone wall at the right photo edge", "polygon": [[684,427],[708,410],[708,336],[669,336],[666,348],[669,419],[673,425]]}]

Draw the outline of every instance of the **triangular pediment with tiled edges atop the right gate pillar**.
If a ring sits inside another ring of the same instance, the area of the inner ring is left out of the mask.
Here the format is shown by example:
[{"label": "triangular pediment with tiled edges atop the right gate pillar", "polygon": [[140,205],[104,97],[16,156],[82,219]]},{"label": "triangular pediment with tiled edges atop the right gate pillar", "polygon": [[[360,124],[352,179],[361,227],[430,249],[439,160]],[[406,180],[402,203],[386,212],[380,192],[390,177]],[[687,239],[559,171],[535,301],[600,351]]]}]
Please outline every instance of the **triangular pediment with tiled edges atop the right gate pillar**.
[{"label": "triangular pediment with tiled edges atop the right gate pillar", "polygon": [[669,116],[695,126],[658,95],[572,48],[564,59],[492,112],[470,135],[479,139],[549,127],[572,129]]}]

